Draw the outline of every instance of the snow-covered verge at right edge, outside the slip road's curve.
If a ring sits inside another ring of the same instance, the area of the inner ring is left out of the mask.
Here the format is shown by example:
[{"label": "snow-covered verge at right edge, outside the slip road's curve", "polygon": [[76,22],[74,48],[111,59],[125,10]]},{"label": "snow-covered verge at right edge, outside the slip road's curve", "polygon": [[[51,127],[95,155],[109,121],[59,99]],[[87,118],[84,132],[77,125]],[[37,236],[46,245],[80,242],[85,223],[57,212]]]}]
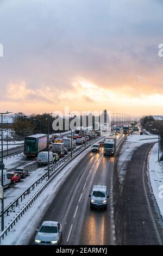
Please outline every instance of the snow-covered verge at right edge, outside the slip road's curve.
[{"label": "snow-covered verge at right edge, outside the slip road's curve", "polygon": [[163,218],[163,163],[158,162],[158,148],[156,143],[149,156],[149,177],[151,180],[152,190]]}]

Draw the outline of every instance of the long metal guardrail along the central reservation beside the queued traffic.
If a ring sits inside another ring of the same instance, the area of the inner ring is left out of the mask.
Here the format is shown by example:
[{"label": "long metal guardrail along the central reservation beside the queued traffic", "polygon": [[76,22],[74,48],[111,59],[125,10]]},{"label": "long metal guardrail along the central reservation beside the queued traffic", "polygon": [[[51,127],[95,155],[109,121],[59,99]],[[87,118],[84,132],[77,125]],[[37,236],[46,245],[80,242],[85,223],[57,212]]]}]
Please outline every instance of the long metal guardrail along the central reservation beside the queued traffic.
[{"label": "long metal guardrail along the central reservation beside the queued traffic", "polygon": [[[97,137],[96,141],[98,141],[99,139],[101,138],[100,137]],[[40,194],[43,192],[43,190],[45,190],[45,188],[52,182],[53,179],[56,178],[56,176],[61,172],[62,169],[64,169],[64,167],[70,163],[76,156],[78,156],[82,151],[84,151],[86,148],[90,147],[90,145],[95,142],[94,139],[91,139],[91,141],[88,141],[86,142],[85,144],[83,144],[82,146],[80,146],[79,148],[75,149],[73,151],[73,156],[71,157],[71,154],[68,154],[67,156],[65,156],[63,159],[60,160],[60,162],[65,162],[65,164],[63,164],[58,170],[57,172],[55,172],[51,178],[45,182],[45,184],[42,185],[42,187],[39,188],[39,190],[34,194],[34,196],[32,198],[29,199],[28,203],[26,203],[24,205],[24,207],[20,210],[20,212],[18,212],[18,214],[16,214],[16,216],[14,217],[14,219],[9,223],[9,225],[7,227],[5,227],[5,229],[2,231],[2,233],[0,234],[0,243],[1,243],[1,239],[4,239],[4,236],[8,234],[8,232],[10,231],[10,229],[13,227],[13,225],[16,224],[16,222],[20,219],[20,217],[28,210],[28,208],[30,207],[30,205],[32,205],[35,200],[37,199],[37,197],[40,196]],[[61,164],[61,163],[60,163]],[[59,166],[59,162],[57,164],[54,164],[54,166],[50,169],[50,173],[52,173],[55,168],[57,168],[57,165]],[[34,189],[33,186],[38,182],[40,181],[41,179],[44,179],[48,176],[48,172],[45,173],[44,175],[42,175],[42,177],[37,180],[36,182],[34,182],[34,184],[32,186],[30,186],[25,192],[23,192],[18,198],[16,198],[14,200],[14,202],[11,203],[11,205],[9,205],[5,210],[4,212],[9,212],[9,209],[10,208],[13,208],[14,207],[14,204],[16,204],[16,206],[18,205],[18,199],[21,199],[22,201],[22,197],[24,196],[25,197],[25,194],[26,193],[30,193],[30,188]]]}]

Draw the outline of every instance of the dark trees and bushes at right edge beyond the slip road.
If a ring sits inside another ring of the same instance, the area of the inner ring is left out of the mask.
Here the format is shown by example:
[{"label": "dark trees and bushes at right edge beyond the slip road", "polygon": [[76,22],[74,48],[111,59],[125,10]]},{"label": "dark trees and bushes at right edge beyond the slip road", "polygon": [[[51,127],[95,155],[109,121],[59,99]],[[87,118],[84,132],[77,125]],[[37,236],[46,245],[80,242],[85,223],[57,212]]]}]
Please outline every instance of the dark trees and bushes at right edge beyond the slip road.
[{"label": "dark trees and bushes at right edge beyond the slip road", "polygon": [[163,161],[163,120],[155,120],[152,115],[146,115],[140,119],[140,123],[144,129],[154,135],[160,135],[160,161]]}]

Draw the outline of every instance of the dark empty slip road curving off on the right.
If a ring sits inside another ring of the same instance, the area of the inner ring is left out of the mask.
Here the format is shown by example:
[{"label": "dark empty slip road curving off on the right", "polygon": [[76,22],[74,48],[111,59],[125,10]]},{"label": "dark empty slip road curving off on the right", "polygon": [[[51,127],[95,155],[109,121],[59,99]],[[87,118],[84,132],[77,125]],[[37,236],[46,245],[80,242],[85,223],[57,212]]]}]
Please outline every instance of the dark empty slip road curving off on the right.
[{"label": "dark empty slip road curving off on the right", "polygon": [[147,156],[153,144],[136,150],[123,183],[114,172],[114,220],[118,245],[161,245],[162,220],[152,194]]}]

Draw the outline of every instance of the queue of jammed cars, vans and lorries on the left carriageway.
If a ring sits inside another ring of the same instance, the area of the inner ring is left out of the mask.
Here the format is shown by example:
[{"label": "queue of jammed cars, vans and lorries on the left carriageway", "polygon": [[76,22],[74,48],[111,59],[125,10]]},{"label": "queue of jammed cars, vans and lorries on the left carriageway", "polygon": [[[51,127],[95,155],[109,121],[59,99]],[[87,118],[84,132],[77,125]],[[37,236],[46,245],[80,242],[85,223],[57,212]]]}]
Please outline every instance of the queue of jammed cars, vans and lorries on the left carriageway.
[{"label": "queue of jammed cars, vans and lorries on the left carriageway", "polygon": [[[62,157],[70,154],[71,151],[80,147],[84,143],[91,139],[96,139],[101,135],[99,131],[84,130],[83,127],[78,127],[71,134],[67,135],[51,135],[49,138],[49,151],[48,151],[48,135],[36,134],[24,138],[24,157],[23,161],[34,160],[38,167],[57,163]],[[22,180],[30,178],[30,167],[18,166],[13,169],[8,169],[3,161],[3,187],[4,189],[14,187],[15,184],[20,183]],[[0,161],[0,169],[2,168],[2,162]],[[0,174],[0,181],[2,176]]]}]

